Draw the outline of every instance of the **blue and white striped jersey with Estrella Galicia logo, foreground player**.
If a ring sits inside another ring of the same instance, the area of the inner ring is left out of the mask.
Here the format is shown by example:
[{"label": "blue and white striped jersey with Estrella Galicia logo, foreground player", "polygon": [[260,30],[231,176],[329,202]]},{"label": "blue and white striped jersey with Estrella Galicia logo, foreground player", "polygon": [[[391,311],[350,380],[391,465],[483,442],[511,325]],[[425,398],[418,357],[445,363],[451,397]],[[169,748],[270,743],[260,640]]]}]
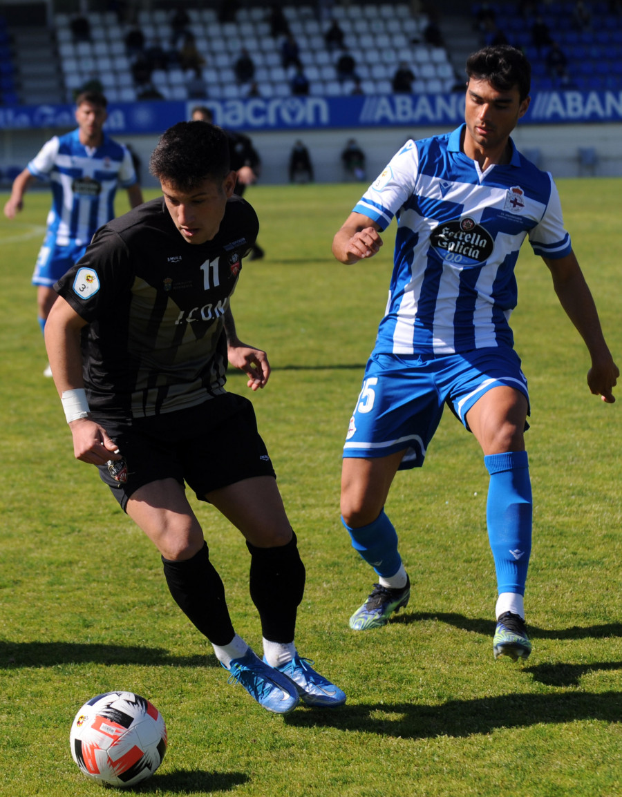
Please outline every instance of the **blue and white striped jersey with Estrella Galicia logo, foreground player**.
[{"label": "blue and white striped jersey with Estrella Galicia logo, foreground player", "polygon": [[452,354],[514,344],[514,266],[526,236],[549,258],[571,251],[553,178],[512,146],[482,172],[464,126],[408,141],[354,208],[384,230],[397,217],[388,304],[376,351]]}]

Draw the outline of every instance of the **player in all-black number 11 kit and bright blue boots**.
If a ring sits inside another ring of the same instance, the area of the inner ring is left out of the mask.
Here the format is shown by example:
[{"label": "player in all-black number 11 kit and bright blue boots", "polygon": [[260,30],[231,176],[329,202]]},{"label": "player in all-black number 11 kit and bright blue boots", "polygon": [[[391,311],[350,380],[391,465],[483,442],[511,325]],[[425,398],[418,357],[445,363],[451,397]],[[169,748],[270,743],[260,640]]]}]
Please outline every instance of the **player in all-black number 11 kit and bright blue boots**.
[{"label": "player in all-black number 11 kit and bright blue boots", "polygon": [[[294,645],[305,567],[253,406],[225,390],[227,359],[252,390],[270,376],[230,308],[258,219],[234,196],[229,164],[221,128],[169,128],[150,163],[163,197],[97,231],[55,285],[46,345],[75,456],[158,548],[171,595],[229,680],[275,713],[341,705],[345,694]],[[184,482],[246,538],[263,659],[234,631]]]}]

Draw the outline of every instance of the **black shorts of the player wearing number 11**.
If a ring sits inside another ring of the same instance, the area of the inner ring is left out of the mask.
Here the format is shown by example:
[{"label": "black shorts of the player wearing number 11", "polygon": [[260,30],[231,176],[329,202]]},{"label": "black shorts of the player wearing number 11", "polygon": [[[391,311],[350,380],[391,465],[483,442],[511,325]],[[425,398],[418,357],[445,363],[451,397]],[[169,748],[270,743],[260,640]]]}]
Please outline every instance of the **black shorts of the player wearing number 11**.
[{"label": "black shorts of the player wearing number 11", "polygon": [[225,393],[200,406],[131,424],[93,418],[108,432],[128,465],[128,478],[115,481],[101,465],[100,477],[125,509],[128,498],[152,481],[184,481],[199,501],[206,493],[255,476],[275,476],[247,398]]}]

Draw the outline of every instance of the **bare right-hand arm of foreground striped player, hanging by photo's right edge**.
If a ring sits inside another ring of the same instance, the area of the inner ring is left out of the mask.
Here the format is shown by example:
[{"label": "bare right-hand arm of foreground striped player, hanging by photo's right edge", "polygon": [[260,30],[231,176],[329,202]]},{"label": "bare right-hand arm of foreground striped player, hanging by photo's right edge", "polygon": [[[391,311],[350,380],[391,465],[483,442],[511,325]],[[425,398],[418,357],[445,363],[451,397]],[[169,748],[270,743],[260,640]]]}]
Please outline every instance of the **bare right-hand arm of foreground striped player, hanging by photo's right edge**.
[{"label": "bare right-hand arm of foreground striped player, hanging by photo's right edge", "polygon": [[616,401],[612,393],[620,376],[620,369],[613,362],[611,352],[604,340],[596,304],[592,299],[577,257],[573,252],[558,260],[544,258],[553,276],[553,287],[566,315],[585,340],[592,367],[588,371],[588,386],[594,395],[604,402]]}]

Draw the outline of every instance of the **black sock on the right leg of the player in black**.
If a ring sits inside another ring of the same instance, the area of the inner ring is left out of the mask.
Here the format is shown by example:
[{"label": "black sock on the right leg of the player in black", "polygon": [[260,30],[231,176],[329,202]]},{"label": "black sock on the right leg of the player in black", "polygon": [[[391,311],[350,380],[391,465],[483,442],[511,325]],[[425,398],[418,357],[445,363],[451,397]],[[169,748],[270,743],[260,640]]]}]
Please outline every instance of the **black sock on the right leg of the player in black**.
[{"label": "black sock on the right leg of the player in black", "polygon": [[296,610],[305,592],[305,565],[296,535],[278,548],[256,548],[249,542],[250,597],[270,642],[293,642]]}]

